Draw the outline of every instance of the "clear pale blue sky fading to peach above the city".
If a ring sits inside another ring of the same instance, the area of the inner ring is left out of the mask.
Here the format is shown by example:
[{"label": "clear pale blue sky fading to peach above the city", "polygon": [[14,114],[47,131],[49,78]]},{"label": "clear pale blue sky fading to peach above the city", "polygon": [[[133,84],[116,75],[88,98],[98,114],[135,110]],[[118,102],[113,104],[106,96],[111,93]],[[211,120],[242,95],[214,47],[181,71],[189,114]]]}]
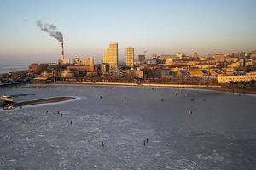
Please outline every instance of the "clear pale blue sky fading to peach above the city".
[{"label": "clear pale blue sky fading to peach above the city", "polygon": [[0,65],[56,62],[61,43],[37,20],[57,26],[65,56],[102,61],[109,42],[138,54],[200,55],[256,49],[255,0],[0,0]]}]

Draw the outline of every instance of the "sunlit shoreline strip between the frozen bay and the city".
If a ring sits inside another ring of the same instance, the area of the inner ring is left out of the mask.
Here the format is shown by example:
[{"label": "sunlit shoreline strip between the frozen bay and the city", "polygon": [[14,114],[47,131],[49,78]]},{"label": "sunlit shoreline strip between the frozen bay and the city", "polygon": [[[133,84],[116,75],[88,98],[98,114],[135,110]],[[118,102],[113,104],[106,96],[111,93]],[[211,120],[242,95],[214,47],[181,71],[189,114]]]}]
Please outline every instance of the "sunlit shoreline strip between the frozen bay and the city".
[{"label": "sunlit shoreline strip between the frozen bay and the city", "polygon": [[125,82],[54,82],[55,84],[74,84],[87,86],[116,86],[116,87],[144,87],[144,88],[193,88],[212,90],[221,93],[256,94],[253,89],[224,88],[220,85],[194,85],[194,84],[163,84],[163,83],[125,83]]}]

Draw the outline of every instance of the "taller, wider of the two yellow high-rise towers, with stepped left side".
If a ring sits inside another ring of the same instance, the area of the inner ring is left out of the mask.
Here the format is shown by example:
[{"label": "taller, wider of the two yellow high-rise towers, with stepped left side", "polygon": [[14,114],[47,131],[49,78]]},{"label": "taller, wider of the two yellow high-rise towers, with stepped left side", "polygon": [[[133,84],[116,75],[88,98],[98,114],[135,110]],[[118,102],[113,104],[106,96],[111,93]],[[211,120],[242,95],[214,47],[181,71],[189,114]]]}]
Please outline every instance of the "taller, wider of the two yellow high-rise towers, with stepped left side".
[{"label": "taller, wider of the two yellow high-rise towers, with stepped left side", "polygon": [[108,63],[110,68],[117,68],[118,58],[118,43],[110,42],[109,48],[103,54],[103,63]]}]

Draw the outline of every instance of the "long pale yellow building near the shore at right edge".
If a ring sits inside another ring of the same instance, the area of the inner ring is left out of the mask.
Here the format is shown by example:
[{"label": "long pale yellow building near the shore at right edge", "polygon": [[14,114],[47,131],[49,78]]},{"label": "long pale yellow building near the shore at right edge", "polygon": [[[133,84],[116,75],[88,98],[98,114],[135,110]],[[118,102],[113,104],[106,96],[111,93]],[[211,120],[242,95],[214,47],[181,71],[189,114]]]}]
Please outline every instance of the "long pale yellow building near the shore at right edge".
[{"label": "long pale yellow building near the shore at right edge", "polygon": [[248,82],[251,80],[256,80],[256,72],[249,72],[246,75],[237,76],[221,76],[218,75],[218,83],[230,83],[230,82]]}]

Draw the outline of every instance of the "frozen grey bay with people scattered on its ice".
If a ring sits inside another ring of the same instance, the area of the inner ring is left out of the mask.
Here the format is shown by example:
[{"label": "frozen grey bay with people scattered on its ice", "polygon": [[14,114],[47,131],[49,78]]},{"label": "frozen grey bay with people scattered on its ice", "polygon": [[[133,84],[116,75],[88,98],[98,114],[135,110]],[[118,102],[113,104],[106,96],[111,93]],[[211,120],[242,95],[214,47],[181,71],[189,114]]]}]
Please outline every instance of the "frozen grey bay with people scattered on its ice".
[{"label": "frozen grey bay with people scattered on its ice", "polygon": [[0,109],[0,169],[256,168],[255,95],[56,84],[0,94],[76,97]]}]

